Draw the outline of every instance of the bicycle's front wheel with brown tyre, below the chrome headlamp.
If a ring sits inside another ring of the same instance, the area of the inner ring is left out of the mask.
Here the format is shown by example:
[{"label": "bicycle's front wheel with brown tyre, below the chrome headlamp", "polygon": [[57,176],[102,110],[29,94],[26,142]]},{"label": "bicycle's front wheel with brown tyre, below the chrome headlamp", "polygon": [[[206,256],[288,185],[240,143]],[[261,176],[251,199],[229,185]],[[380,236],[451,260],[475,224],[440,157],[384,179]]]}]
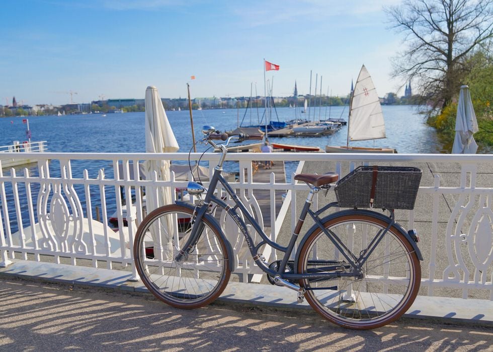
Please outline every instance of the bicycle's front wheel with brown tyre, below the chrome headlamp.
[{"label": "bicycle's front wheel with brown tyre, below the chrome headlamp", "polygon": [[177,308],[211,303],[224,291],[231,273],[226,244],[207,219],[202,219],[197,243],[180,262],[175,259],[194,222],[192,209],[165,205],[145,217],[135,236],[135,265],[144,285],[156,298]]}]

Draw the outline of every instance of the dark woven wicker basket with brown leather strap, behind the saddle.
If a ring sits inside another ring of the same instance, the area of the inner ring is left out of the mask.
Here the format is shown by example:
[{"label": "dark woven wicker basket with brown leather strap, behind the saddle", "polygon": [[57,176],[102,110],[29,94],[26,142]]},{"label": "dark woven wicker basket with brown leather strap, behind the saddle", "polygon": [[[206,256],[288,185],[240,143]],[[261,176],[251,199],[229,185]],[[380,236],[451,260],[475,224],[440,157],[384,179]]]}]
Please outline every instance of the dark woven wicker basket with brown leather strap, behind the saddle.
[{"label": "dark woven wicker basket with brown leather strap, behind the saddle", "polygon": [[[334,188],[341,207],[370,207],[373,166],[360,166],[343,177]],[[378,166],[373,207],[413,209],[421,181],[414,167]]]}]

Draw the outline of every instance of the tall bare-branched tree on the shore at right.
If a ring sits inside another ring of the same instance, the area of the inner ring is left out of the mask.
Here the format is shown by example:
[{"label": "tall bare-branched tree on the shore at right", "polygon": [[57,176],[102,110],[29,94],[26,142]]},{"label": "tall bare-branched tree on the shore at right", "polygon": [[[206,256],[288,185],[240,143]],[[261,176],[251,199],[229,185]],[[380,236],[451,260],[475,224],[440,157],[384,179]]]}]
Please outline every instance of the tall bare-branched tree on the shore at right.
[{"label": "tall bare-branched tree on the shore at right", "polygon": [[445,107],[459,91],[467,57],[493,38],[493,0],[407,0],[384,11],[405,34],[393,77],[413,79],[422,102]]}]

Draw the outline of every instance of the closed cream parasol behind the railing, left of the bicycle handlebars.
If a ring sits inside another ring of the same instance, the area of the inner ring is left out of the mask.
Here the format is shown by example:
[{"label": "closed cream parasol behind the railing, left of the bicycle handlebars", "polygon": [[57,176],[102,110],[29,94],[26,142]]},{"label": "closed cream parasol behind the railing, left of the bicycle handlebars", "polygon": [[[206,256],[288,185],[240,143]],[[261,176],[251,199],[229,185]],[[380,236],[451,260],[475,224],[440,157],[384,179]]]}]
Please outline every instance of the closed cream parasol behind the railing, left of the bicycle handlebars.
[{"label": "closed cream parasol behind the railing, left of the bicycle handlebars", "polygon": [[[162,106],[157,88],[149,86],[145,90],[145,152],[174,153],[178,149],[180,147],[171,129],[165,108]],[[170,179],[170,161],[162,159],[146,161],[146,179],[152,180],[154,172],[157,173],[158,180],[168,181]],[[171,203],[170,187],[152,189],[150,193],[146,192],[147,213],[161,205]]]}]

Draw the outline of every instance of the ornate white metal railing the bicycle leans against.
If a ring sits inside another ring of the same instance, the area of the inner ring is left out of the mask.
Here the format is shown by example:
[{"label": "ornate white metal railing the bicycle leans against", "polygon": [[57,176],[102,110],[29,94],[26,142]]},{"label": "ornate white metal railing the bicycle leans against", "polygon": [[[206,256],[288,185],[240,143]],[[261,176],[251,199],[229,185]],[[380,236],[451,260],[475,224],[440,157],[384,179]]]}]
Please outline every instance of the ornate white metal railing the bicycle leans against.
[{"label": "ornate white metal railing the bicycle leans against", "polygon": [[[16,159],[35,158],[38,164],[31,169],[2,171],[0,167],[1,266],[9,265],[14,258],[39,261],[41,256],[49,256],[55,263],[68,260],[72,265],[88,265],[89,260],[97,267],[104,261],[107,268],[112,268],[115,263],[122,263],[135,274],[130,248],[143,218],[139,210],[144,205],[142,191],[146,187],[179,189],[187,184],[185,180],[175,179],[174,173],[170,181],[157,180],[156,174],[145,180],[138,177],[139,162],[166,159],[183,163],[188,159],[184,153],[7,155]],[[198,157],[199,154],[193,154],[191,159]],[[229,167],[239,172],[233,188],[274,240],[290,236],[307,186],[295,181],[278,182],[274,174],[269,183],[253,182],[252,160],[294,162],[300,159],[297,172],[303,165],[304,172],[335,171],[340,175],[358,165],[391,163],[420,167],[423,178],[415,209],[396,211],[401,225],[417,228],[420,233],[419,247],[425,258],[420,294],[493,300],[493,155],[229,154],[226,161],[236,162]],[[211,175],[219,155],[205,154],[202,160],[208,164]],[[207,182],[204,184],[207,186]],[[275,219],[270,228],[264,227],[262,212],[265,210],[261,209],[254,193],[261,189],[270,192],[267,211],[271,219]],[[276,209],[278,192],[286,196]],[[147,192],[147,196],[150,194],[152,192]],[[172,192],[173,200],[177,195]],[[132,201],[122,205],[123,199]],[[314,206],[326,202],[320,194]],[[116,232],[108,227],[113,212],[119,224]],[[262,272],[252,264],[241,233],[234,231],[227,218],[221,219],[235,252],[235,272],[241,274],[243,280],[247,280],[247,274],[258,278]],[[276,253],[266,249],[264,256],[275,260]]]}]

